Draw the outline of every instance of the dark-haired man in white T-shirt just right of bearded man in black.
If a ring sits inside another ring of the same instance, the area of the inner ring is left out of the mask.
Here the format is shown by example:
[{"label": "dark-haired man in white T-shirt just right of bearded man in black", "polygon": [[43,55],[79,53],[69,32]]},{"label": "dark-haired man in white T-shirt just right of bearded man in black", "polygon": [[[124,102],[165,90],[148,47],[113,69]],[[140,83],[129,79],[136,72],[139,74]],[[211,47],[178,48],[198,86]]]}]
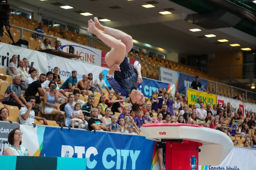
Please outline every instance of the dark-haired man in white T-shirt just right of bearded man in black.
[{"label": "dark-haired man in white T-shirt just right of bearded man in black", "polygon": [[[47,77],[47,80],[45,80],[44,83],[41,84],[42,88],[44,88],[46,91],[50,91],[49,89],[49,83],[50,81],[52,81],[52,78],[53,78],[53,73],[51,71],[48,71],[46,73],[46,77]],[[63,89],[60,89],[58,86],[56,86],[56,90],[57,90],[57,94],[59,96],[59,100],[57,103],[60,103],[60,104],[63,104],[66,102],[66,99],[67,99],[67,94],[65,93],[65,91]],[[64,98],[65,97],[65,98]],[[62,101],[61,101],[62,100]]]}]

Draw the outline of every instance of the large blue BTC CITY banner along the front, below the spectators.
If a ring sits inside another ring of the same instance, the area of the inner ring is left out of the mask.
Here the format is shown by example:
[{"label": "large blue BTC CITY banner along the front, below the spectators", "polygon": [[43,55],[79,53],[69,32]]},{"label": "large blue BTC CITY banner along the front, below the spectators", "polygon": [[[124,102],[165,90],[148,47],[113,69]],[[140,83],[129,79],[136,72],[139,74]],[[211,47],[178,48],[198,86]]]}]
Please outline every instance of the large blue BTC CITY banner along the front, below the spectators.
[{"label": "large blue BTC CITY banner along the front, below the spectators", "polygon": [[69,151],[69,157],[86,158],[88,169],[152,169],[156,142],[142,136],[29,125],[20,130],[22,146],[33,156],[64,157]]}]

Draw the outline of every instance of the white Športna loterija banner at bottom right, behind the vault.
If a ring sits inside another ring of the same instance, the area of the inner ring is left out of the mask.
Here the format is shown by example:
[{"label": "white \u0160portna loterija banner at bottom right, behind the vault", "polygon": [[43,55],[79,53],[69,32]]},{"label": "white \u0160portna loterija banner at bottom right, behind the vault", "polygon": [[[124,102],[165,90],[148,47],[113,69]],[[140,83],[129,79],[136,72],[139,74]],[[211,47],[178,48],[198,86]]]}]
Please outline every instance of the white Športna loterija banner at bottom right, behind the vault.
[{"label": "white \u0160portna loterija banner at bottom right, behind the vault", "polygon": [[[210,153],[209,153],[209,159]],[[218,166],[201,166],[200,170],[255,170],[256,149],[233,147],[232,151]]]}]

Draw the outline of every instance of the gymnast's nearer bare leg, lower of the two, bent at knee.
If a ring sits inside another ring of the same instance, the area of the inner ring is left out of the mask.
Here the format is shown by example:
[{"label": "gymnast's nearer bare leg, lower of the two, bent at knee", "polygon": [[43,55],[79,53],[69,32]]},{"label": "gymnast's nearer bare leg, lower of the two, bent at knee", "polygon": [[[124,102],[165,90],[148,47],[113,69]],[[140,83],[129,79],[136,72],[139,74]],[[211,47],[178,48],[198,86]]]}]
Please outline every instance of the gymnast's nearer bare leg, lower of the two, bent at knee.
[{"label": "gymnast's nearer bare leg, lower of the two, bent at knee", "polygon": [[112,49],[105,56],[106,64],[111,68],[114,64],[120,65],[126,54],[126,46],[123,42],[118,41],[114,37],[108,34],[100,32],[94,25],[92,20],[88,21],[88,32],[91,32],[104,42],[106,45],[110,46]]}]

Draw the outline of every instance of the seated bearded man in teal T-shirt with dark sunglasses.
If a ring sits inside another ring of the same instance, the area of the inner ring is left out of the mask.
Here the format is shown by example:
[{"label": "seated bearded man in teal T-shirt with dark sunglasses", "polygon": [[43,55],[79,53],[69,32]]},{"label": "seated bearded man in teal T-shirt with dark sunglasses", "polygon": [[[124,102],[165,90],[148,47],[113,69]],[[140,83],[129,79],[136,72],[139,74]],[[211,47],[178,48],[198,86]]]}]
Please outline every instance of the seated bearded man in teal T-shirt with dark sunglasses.
[{"label": "seated bearded man in teal T-shirt with dark sunglasses", "polygon": [[81,91],[77,88],[77,71],[71,72],[71,77],[67,78],[67,80],[62,84],[60,89],[71,93],[73,93],[74,91],[78,91],[79,93],[81,93]]}]

